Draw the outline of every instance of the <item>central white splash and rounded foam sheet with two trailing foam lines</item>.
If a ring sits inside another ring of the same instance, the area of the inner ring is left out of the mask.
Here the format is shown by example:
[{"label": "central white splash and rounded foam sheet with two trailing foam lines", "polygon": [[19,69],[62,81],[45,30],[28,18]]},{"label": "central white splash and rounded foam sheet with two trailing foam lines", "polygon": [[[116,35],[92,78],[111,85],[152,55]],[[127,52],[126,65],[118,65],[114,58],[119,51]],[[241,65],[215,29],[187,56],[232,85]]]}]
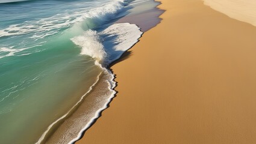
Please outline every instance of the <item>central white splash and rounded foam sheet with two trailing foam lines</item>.
[{"label": "central white splash and rounded foam sheet with two trailing foam lines", "polygon": [[[106,47],[103,47],[104,45],[102,44],[102,41],[100,38],[100,37],[104,37],[105,35],[107,35],[107,37],[114,36],[116,38],[114,39],[115,44],[113,45],[113,47],[108,47],[108,50],[106,50],[107,49]],[[106,82],[108,83],[108,92],[105,92],[105,94],[109,94],[109,95],[105,95],[104,100],[102,99],[100,103],[97,102],[98,104],[101,104],[99,109],[90,110],[90,112],[93,115],[91,118],[89,118],[89,121],[87,121],[87,123],[84,124],[81,130],[80,129],[75,130],[74,127],[76,127],[76,125],[74,125],[72,129],[68,130],[67,133],[77,134],[76,137],[72,137],[72,140],[69,143],[73,143],[76,140],[80,139],[81,135],[83,134],[83,131],[89,128],[90,125],[93,124],[95,119],[99,117],[99,113],[101,113],[102,110],[107,108],[108,103],[110,103],[111,99],[116,94],[116,91],[114,91],[114,88],[116,87],[116,82],[114,82],[114,74],[111,73],[110,70],[107,70],[107,68],[102,67],[102,63],[110,64],[110,62],[113,62],[114,60],[120,58],[123,52],[130,49],[135,43],[137,43],[138,38],[140,38],[141,35],[142,35],[142,32],[140,31],[140,28],[138,28],[136,25],[131,25],[130,23],[115,23],[109,26],[107,29],[105,29],[102,32],[97,33],[96,31],[89,30],[84,32],[84,35],[74,37],[71,39],[73,43],[81,47],[82,55],[92,56],[92,58],[95,58],[96,62],[101,62],[101,64],[99,64],[99,67],[102,68],[103,70],[102,73],[104,73],[105,76],[107,76]],[[96,52],[96,50],[99,50],[99,52]],[[111,52],[111,53],[107,53],[107,52]],[[109,57],[106,56],[106,53],[110,56]],[[111,59],[108,59],[111,57],[111,55],[114,55],[114,57],[112,57]],[[93,84],[93,86],[96,85],[98,80],[99,80],[99,76],[96,82]],[[78,101],[78,103],[76,103],[75,106],[81,103],[83,98],[87,94],[89,94],[90,91],[92,91],[93,86],[91,86],[89,91],[83,95],[81,100]],[[74,109],[75,106],[73,106],[72,109]],[[43,133],[43,135],[40,137],[37,143],[41,143],[45,138],[46,134],[48,133],[48,131],[53,127],[53,125],[55,125],[61,119],[64,119],[71,112],[72,109],[70,109],[69,112],[67,112],[65,115],[61,116],[61,118],[57,119],[57,121],[49,125],[49,127],[47,128],[45,133]],[[76,133],[76,131],[78,131],[79,133]],[[70,139],[67,137],[70,137],[70,135],[69,136],[65,135],[61,137],[61,140],[57,143],[63,143],[63,142],[66,143],[65,140]]]}]

